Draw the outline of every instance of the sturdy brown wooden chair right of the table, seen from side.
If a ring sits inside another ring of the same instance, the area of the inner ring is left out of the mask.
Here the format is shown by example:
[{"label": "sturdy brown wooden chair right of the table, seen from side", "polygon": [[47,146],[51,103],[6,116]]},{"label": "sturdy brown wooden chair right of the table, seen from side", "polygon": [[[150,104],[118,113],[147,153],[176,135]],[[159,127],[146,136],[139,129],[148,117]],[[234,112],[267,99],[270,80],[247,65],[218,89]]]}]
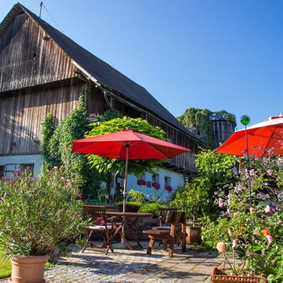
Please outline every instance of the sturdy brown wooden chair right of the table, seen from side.
[{"label": "sturdy brown wooden chair right of the table, seen from side", "polygon": [[[151,255],[156,240],[163,241],[163,250],[166,250],[167,242],[169,242],[169,248],[168,248],[169,257],[173,256],[174,243],[176,238],[180,238],[180,241],[182,243],[182,252],[186,251],[185,238],[187,237],[187,233],[185,232],[185,224],[186,224],[185,212],[169,211],[166,217],[166,223],[171,224],[170,231],[158,230],[158,229],[143,231],[144,234],[149,235],[149,246],[146,252],[147,255]],[[176,226],[177,224],[181,224],[180,230]]]}]

